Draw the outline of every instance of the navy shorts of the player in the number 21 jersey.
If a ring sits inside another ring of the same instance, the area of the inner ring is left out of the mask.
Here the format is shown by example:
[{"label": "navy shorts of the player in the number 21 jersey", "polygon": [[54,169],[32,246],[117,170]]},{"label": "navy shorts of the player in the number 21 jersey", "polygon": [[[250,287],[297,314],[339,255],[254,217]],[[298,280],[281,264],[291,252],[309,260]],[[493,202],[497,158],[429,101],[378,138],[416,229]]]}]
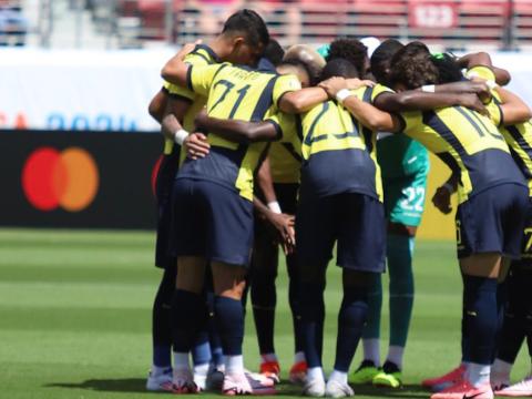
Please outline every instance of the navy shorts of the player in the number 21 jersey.
[{"label": "navy shorts of the player in the number 21 jersey", "polygon": [[253,245],[253,203],[203,180],[177,178],[172,208],[172,253],[247,266]]}]

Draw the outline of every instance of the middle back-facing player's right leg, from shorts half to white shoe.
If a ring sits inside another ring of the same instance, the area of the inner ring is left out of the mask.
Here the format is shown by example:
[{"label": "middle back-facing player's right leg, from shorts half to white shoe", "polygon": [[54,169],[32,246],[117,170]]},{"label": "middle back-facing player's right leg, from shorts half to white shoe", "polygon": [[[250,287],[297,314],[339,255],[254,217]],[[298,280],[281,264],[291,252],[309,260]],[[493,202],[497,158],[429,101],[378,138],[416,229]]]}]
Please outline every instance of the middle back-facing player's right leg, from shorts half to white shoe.
[{"label": "middle back-facing player's right leg, from shorts half to white shoe", "polygon": [[344,298],[338,315],[334,371],[326,393],[352,396],[348,370],[361,337],[368,311],[372,275],[385,270],[386,222],[382,204],[361,194],[342,194],[335,207],[339,224],[338,265],[344,268]]}]

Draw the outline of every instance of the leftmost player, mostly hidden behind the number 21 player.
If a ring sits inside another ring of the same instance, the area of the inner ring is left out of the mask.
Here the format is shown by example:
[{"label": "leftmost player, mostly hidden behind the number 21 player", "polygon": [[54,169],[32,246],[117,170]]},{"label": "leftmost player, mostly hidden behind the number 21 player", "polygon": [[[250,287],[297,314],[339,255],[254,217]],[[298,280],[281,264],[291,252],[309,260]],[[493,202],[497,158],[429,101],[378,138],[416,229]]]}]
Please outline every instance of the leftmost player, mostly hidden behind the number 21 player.
[{"label": "leftmost player, mostly hidden behind the number 21 player", "polygon": [[[191,52],[186,62],[194,65],[206,65],[215,62],[229,61],[237,63],[254,62],[256,50],[250,50],[249,38],[257,35],[255,21],[259,17],[253,11],[239,11],[233,14],[225,23],[223,32],[216,37],[208,45],[196,45]],[[166,121],[173,132],[181,132],[186,135],[186,130],[194,129],[194,117],[205,105],[206,98],[181,86],[165,82],[164,88],[150,105],[150,111],[157,120]],[[183,129],[184,127],[184,129]],[[182,136],[182,139],[184,139]],[[180,146],[174,145],[172,140],[165,142],[165,156],[163,157],[160,173],[157,175],[157,201],[160,204],[158,224],[157,224],[157,245],[156,264],[164,265],[165,273],[157,290],[153,309],[153,341],[154,341],[154,366],[149,377],[146,387],[151,390],[168,388],[172,381],[171,370],[171,303],[175,290],[176,268],[175,258],[168,255],[168,235],[170,235],[170,196],[177,166],[180,163]],[[178,317],[178,315],[175,315]],[[202,338],[203,337],[203,338]],[[204,389],[206,386],[207,370],[209,369],[208,342],[206,334],[200,334],[198,348],[194,356],[194,378],[197,387]],[[207,347],[206,347],[207,346]],[[221,354],[217,348],[213,348],[213,365],[209,369],[209,376],[215,376],[215,368],[222,362]],[[201,356],[200,356],[201,355]],[[211,382],[214,382],[211,379]]]}]

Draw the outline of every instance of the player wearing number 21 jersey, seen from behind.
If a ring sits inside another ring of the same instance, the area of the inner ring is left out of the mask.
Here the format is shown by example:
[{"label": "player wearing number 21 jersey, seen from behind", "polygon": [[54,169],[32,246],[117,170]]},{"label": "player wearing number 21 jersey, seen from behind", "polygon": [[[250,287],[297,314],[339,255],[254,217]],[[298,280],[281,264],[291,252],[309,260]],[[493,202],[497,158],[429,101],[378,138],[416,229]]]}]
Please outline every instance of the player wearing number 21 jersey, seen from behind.
[{"label": "player wearing number 21 jersey, seen from behind", "polygon": [[[257,49],[267,40],[264,25]],[[272,106],[279,106],[279,101],[300,88],[294,75],[226,63],[195,68],[178,58],[176,61],[163,70],[163,78],[207,95],[207,113],[215,117],[262,120]],[[272,392],[244,372],[242,356],[241,298],[253,238],[253,172],[266,144],[238,145],[216,134],[208,135],[208,156],[186,160],[174,185],[174,216],[180,222],[173,238],[178,264],[174,304],[182,316],[175,325],[180,339],[175,342],[178,372],[174,371],[174,385],[177,391],[195,390],[186,354],[201,323],[201,277],[209,260],[225,356],[224,392]]]}]

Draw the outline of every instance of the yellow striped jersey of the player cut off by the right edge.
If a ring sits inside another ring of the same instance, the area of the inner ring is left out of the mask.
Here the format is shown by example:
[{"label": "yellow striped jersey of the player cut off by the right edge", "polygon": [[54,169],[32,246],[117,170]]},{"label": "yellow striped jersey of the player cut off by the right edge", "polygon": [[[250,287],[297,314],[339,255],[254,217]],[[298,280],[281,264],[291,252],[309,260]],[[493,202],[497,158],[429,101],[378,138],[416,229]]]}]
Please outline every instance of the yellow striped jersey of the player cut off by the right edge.
[{"label": "yellow striped jersey of the player cut off by the right edge", "polygon": [[[495,81],[493,71],[487,66],[474,66],[468,71],[468,75]],[[492,100],[487,105],[488,111],[491,120],[499,126],[499,131],[510,146],[510,153],[526,178],[532,196],[532,123],[526,121],[509,126],[503,125],[504,115],[500,105],[501,98],[495,90],[492,90]]]}]

